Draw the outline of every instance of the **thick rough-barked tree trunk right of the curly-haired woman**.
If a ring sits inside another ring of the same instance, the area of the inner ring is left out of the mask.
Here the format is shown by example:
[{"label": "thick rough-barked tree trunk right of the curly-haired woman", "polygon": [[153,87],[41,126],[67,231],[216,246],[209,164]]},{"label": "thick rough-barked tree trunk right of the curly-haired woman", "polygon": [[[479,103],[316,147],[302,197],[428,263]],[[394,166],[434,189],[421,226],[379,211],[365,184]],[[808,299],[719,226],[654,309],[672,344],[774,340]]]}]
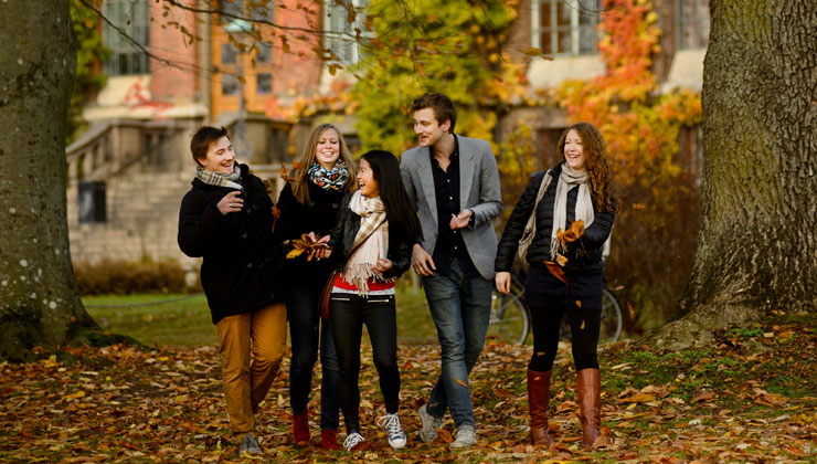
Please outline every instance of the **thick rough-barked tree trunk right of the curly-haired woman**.
[{"label": "thick rough-barked tree trunk right of the curly-haired woman", "polygon": [[711,0],[701,230],[659,348],[770,310],[817,309],[817,8]]}]

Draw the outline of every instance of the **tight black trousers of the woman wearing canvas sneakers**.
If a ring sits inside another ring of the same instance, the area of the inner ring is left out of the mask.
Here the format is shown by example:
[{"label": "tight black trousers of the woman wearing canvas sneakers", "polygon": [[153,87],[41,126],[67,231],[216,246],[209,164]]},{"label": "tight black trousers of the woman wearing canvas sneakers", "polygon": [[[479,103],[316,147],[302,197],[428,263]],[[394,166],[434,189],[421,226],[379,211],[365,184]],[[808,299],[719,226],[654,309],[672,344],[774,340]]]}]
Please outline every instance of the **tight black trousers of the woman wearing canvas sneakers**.
[{"label": "tight black trousers of the woman wearing canvas sneakers", "polygon": [[394,295],[336,293],[329,305],[335,347],[340,365],[340,409],[347,433],[360,431],[360,341],[363,324],[372,342],[372,358],[380,376],[385,411],[400,407],[400,368],[397,367],[397,316]]}]

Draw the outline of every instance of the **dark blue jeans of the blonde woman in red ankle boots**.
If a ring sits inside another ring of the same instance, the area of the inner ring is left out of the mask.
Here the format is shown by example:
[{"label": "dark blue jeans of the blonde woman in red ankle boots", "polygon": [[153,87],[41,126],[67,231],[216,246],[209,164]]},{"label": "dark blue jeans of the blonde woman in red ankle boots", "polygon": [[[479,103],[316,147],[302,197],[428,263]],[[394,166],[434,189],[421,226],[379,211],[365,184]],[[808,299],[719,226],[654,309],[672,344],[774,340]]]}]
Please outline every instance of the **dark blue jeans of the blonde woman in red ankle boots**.
[{"label": "dark blue jeans of the blonde woman in red ankle boots", "polygon": [[[293,358],[289,363],[289,405],[294,414],[303,414],[312,390],[312,368],[318,358],[320,340],[320,430],[338,430],[340,424],[340,366],[335,349],[331,323],[318,315],[320,285],[299,285],[286,293],[289,316],[289,338]],[[322,325],[322,327],[320,327]]]}]

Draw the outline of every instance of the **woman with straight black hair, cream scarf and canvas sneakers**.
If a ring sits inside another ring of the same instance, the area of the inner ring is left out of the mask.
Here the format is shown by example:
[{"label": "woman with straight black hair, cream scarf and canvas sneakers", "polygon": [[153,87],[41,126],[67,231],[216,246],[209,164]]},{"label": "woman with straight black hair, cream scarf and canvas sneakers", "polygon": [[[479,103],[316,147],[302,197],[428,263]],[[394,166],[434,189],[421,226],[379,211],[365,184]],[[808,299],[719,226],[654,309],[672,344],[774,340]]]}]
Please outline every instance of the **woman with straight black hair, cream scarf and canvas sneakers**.
[{"label": "woman with straight black hair, cream scarf and canvas sneakers", "polygon": [[347,428],[347,451],[363,441],[360,434],[360,342],[365,324],[385,415],[389,444],[405,446],[400,424],[400,369],[394,281],[411,264],[412,246],[421,236],[413,204],[403,190],[394,155],[373,150],[360,159],[358,191],[343,199],[338,224],[322,256],[333,259],[340,271],[329,306],[335,346],[340,361],[340,405]]}]

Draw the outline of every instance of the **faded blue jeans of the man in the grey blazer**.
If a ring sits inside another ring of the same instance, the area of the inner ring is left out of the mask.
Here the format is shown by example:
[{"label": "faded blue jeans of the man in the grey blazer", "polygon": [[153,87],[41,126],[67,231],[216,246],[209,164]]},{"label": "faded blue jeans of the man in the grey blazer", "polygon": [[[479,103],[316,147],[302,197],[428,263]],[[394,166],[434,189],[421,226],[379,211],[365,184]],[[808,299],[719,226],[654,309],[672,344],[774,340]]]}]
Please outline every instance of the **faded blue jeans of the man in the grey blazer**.
[{"label": "faded blue jeans of the man in the grey blazer", "polygon": [[450,410],[457,429],[476,429],[468,375],[485,345],[492,283],[481,276],[465,278],[454,260],[449,275],[423,277],[423,286],[443,351],[443,368],[426,410],[437,419]]}]

